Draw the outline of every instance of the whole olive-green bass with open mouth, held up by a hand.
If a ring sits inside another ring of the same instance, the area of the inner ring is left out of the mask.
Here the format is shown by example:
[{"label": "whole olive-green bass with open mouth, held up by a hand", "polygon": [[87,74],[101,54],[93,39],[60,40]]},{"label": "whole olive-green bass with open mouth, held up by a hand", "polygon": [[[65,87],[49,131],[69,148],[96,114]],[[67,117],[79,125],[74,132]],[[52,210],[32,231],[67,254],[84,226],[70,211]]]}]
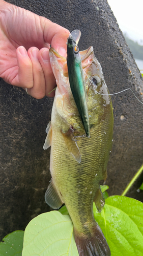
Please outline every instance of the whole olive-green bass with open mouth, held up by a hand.
[{"label": "whole olive-green bass with open mouth, held up by a hand", "polygon": [[51,147],[52,178],[45,201],[53,209],[66,205],[79,256],[110,256],[106,239],[94,219],[93,202],[101,212],[105,202],[99,182],[107,178],[113,133],[112,102],[93,47],[79,54],[87,94],[90,137],[85,136],[71,90],[67,59],[53,48],[49,50],[57,88],[43,146],[44,150]]}]

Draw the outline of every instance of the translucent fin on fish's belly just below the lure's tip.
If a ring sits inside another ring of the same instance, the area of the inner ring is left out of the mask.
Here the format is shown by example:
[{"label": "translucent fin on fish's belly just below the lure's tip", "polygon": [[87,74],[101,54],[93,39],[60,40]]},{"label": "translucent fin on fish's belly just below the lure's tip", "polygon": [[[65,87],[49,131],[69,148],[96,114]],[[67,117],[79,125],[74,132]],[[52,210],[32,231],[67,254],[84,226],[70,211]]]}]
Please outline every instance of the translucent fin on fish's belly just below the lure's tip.
[{"label": "translucent fin on fish's belly just below the lure's tip", "polygon": [[71,130],[67,133],[63,133],[63,138],[65,140],[66,146],[68,148],[69,153],[75,158],[75,160],[80,163],[81,162],[81,155],[79,152],[78,145],[76,143],[75,137]]}]

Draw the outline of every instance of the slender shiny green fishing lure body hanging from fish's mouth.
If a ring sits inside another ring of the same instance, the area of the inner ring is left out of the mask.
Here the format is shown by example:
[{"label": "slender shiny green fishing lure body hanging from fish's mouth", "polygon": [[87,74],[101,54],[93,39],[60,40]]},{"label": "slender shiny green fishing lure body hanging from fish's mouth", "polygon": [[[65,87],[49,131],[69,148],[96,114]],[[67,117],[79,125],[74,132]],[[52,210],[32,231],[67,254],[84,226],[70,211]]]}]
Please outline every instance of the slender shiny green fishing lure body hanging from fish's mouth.
[{"label": "slender shiny green fishing lure body hanging from fish's mouth", "polygon": [[69,36],[67,40],[67,66],[72,95],[84,126],[85,133],[87,137],[90,137],[87,92],[85,91],[81,57],[78,46],[72,36]]}]

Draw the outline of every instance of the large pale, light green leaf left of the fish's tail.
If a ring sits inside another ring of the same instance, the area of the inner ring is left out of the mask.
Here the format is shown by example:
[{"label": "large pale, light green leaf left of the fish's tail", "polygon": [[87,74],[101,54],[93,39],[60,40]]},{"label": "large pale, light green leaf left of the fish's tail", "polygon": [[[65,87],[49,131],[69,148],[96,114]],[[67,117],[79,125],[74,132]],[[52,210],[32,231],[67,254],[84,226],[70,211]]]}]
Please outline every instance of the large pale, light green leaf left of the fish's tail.
[{"label": "large pale, light green leaf left of the fish's tail", "polygon": [[78,256],[69,215],[50,211],[34,218],[24,232],[22,256]]}]

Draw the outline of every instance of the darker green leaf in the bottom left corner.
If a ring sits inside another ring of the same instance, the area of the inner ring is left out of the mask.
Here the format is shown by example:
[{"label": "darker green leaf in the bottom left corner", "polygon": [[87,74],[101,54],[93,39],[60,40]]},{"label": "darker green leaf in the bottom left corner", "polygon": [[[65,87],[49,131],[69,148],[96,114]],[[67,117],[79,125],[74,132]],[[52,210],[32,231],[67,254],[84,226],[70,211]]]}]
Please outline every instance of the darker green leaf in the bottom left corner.
[{"label": "darker green leaf in the bottom left corner", "polygon": [[0,243],[0,256],[21,256],[24,231],[16,230],[8,234]]}]

